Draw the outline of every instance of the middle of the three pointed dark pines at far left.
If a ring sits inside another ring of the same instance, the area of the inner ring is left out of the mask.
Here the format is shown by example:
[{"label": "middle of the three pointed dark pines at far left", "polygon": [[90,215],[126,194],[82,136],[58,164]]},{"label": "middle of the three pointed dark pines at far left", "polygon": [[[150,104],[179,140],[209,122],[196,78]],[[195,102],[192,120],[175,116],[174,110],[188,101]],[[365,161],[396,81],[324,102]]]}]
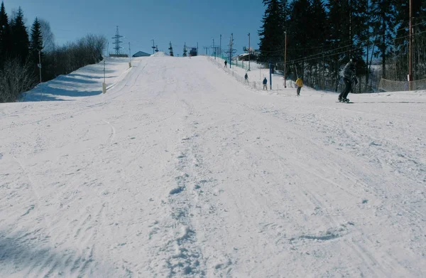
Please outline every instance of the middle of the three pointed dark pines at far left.
[{"label": "middle of the three pointed dark pines at far left", "polygon": [[11,31],[14,55],[21,60],[21,63],[25,63],[29,54],[30,41],[28,39],[26,26],[23,22],[23,11],[21,7],[18,9],[16,18],[13,18]]}]

